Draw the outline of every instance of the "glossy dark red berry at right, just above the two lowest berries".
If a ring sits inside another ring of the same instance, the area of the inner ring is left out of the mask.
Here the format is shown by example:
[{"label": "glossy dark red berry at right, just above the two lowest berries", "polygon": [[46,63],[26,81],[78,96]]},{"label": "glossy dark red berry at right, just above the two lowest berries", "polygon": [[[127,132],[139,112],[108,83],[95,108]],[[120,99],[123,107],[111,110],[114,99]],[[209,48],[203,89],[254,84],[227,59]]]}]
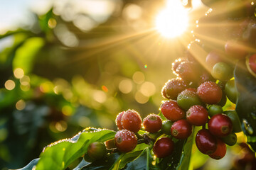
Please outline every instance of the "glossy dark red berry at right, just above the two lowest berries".
[{"label": "glossy dark red berry at right, just above the two lowest berries", "polygon": [[211,134],[218,137],[225,137],[232,132],[233,125],[228,115],[220,113],[210,118],[208,128]]}]

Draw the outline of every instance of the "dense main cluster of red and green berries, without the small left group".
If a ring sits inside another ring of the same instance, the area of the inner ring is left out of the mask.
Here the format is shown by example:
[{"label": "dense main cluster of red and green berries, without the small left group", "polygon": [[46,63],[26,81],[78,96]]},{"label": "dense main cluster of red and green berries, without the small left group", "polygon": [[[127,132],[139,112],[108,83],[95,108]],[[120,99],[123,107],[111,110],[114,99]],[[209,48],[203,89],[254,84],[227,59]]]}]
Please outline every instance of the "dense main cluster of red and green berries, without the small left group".
[{"label": "dense main cluster of red and green berries, without the small left group", "polygon": [[[206,62],[208,60],[209,57]],[[202,126],[196,134],[198,149],[213,159],[224,157],[226,145],[235,145],[235,132],[241,131],[237,113],[223,111],[227,97],[233,103],[237,100],[232,74],[223,79],[224,75],[216,77],[218,69],[208,73],[190,52],[172,66],[178,77],[167,81],[161,91],[162,96],[168,99],[162,103],[161,113],[171,121],[169,134],[183,140],[191,135],[193,126]]]}]

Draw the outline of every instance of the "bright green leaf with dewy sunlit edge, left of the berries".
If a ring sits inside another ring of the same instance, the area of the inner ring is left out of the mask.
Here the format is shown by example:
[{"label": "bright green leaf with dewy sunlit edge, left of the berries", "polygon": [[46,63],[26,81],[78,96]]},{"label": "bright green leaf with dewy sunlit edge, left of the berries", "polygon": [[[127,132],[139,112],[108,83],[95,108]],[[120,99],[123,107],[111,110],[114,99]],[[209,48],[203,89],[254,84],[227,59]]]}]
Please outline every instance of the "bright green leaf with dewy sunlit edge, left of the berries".
[{"label": "bright green leaf with dewy sunlit edge, left of the berries", "polygon": [[43,149],[36,169],[65,169],[75,159],[82,157],[87,152],[90,143],[105,142],[114,138],[115,133],[112,130],[99,129],[90,132],[84,130],[71,139],[54,142]]}]

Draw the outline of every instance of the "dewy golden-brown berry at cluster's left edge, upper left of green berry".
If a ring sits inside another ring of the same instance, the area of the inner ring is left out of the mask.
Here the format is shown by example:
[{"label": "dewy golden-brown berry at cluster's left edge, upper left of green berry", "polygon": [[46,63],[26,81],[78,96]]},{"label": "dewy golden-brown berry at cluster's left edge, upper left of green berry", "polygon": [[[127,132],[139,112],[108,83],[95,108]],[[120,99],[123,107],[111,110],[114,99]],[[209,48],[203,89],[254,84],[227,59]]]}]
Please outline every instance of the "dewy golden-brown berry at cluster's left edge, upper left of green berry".
[{"label": "dewy golden-brown berry at cluster's left edge, upper left of green berry", "polygon": [[164,84],[161,93],[165,98],[176,100],[178,94],[185,90],[186,86],[187,85],[182,79],[171,79]]}]

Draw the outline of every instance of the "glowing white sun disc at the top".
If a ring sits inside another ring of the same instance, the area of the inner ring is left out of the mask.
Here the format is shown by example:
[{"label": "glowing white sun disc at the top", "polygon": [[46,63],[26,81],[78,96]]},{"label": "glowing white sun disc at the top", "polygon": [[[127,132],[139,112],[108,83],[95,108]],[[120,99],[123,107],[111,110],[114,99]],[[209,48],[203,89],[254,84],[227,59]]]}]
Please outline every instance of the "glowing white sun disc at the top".
[{"label": "glowing white sun disc at the top", "polygon": [[169,0],[167,6],[156,16],[156,30],[166,38],[175,38],[188,27],[188,11],[181,1]]}]

